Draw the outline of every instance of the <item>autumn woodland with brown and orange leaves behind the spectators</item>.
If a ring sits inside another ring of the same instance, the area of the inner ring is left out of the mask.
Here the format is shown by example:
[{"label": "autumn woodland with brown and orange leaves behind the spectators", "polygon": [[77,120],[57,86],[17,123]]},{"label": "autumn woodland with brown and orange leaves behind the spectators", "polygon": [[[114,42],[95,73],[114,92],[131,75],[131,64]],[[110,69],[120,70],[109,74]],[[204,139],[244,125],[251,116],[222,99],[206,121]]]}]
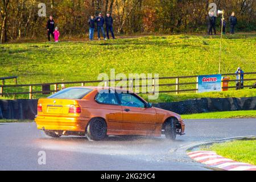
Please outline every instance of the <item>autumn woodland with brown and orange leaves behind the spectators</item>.
[{"label": "autumn woodland with brown and orange leaves behind the spectators", "polygon": [[[118,33],[198,32],[211,2],[225,10],[226,19],[235,11],[238,29],[256,29],[255,0],[0,0],[1,43],[45,36],[50,14],[62,35],[84,36],[89,15],[99,12],[112,14]],[[38,16],[39,3],[46,3],[47,18]]]}]

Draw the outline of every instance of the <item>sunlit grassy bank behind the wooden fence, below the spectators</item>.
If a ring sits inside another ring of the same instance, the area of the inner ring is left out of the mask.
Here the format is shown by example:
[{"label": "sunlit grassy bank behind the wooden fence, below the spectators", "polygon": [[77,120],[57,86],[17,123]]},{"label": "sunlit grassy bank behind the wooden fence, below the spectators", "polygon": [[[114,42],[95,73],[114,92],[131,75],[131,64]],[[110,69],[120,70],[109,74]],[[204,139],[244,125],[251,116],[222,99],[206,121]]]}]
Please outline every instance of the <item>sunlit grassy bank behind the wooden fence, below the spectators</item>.
[{"label": "sunlit grassy bank behind the wooden fence, below the spectators", "polygon": [[[233,73],[238,66],[245,72],[255,72],[255,44],[256,34],[225,35],[222,42],[221,72]],[[144,36],[134,39],[57,44],[53,42],[2,44],[0,67],[3,69],[0,77],[18,76],[18,84],[85,81],[97,80],[98,74],[109,74],[112,68],[115,69],[115,73],[125,73],[127,76],[129,73],[159,73],[160,77],[209,75],[218,73],[219,46],[220,36],[209,38],[209,36],[196,35]],[[252,77],[252,75],[246,76],[246,78]],[[195,82],[196,78],[180,81]],[[160,80],[159,84],[174,82],[175,80]],[[246,84],[252,85],[254,82],[247,81]],[[13,84],[13,81],[7,81],[7,84]],[[192,88],[196,88],[196,85],[180,87],[180,89]],[[5,92],[28,92],[27,87],[5,89]],[[40,90],[39,87],[34,89]],[[162,90],[170,89],[175,89],[175,86],[162,88]],[[231,97],[234,94],[236,93],[230,92]],[[251,96],[252,93],[248,91],[245,95]],[[199,95],[163,94],[160,100],[177,101],[197,96]],[[6,97],[13,98],[13,96]],[[21,98],[23,97],[28,96]],[[42,95],[38,94],[35,97]]]}]

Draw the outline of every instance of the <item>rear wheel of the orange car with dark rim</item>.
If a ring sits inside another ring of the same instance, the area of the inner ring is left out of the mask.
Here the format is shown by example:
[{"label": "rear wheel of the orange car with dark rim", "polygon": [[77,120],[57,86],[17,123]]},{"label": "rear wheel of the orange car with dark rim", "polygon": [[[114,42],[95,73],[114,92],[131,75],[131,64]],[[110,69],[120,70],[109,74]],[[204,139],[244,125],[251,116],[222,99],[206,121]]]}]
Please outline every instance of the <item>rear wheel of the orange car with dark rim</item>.
[{"label": "rear wheel of the orange car with dark rim", "polygon": [[102,140],[106,137],[107,126],[102,118],[93,118],[86,127],[86,137],[89,140]]}]

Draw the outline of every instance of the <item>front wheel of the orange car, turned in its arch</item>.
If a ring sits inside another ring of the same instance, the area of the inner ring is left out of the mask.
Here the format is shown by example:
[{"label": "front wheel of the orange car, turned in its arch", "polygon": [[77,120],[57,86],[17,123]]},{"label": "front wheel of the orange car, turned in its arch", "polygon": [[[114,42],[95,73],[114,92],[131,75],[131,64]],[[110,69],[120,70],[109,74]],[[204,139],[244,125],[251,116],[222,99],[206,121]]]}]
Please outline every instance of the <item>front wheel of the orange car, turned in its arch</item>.
[{"label": "front wheel of the orange car, turned in its arch", "polygon": [[167,139],[175,140],[176,139],[176,118],[169,118],[166,123],[164,123],[164,135]]}]

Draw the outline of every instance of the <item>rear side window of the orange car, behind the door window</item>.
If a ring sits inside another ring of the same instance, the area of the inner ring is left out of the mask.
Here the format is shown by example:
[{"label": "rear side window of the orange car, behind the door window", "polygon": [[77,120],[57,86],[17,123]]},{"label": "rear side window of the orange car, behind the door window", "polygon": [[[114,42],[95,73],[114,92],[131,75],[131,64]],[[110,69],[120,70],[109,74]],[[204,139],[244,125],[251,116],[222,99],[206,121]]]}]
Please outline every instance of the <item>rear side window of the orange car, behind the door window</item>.
[{"label": "rear side window of the orange car, behind the door window", "polygon": [[115,93],[110,93],[108,90],[101,90],[95,100],[100,104],[111,104],[118,105],[117,97],[115,97]]}]

